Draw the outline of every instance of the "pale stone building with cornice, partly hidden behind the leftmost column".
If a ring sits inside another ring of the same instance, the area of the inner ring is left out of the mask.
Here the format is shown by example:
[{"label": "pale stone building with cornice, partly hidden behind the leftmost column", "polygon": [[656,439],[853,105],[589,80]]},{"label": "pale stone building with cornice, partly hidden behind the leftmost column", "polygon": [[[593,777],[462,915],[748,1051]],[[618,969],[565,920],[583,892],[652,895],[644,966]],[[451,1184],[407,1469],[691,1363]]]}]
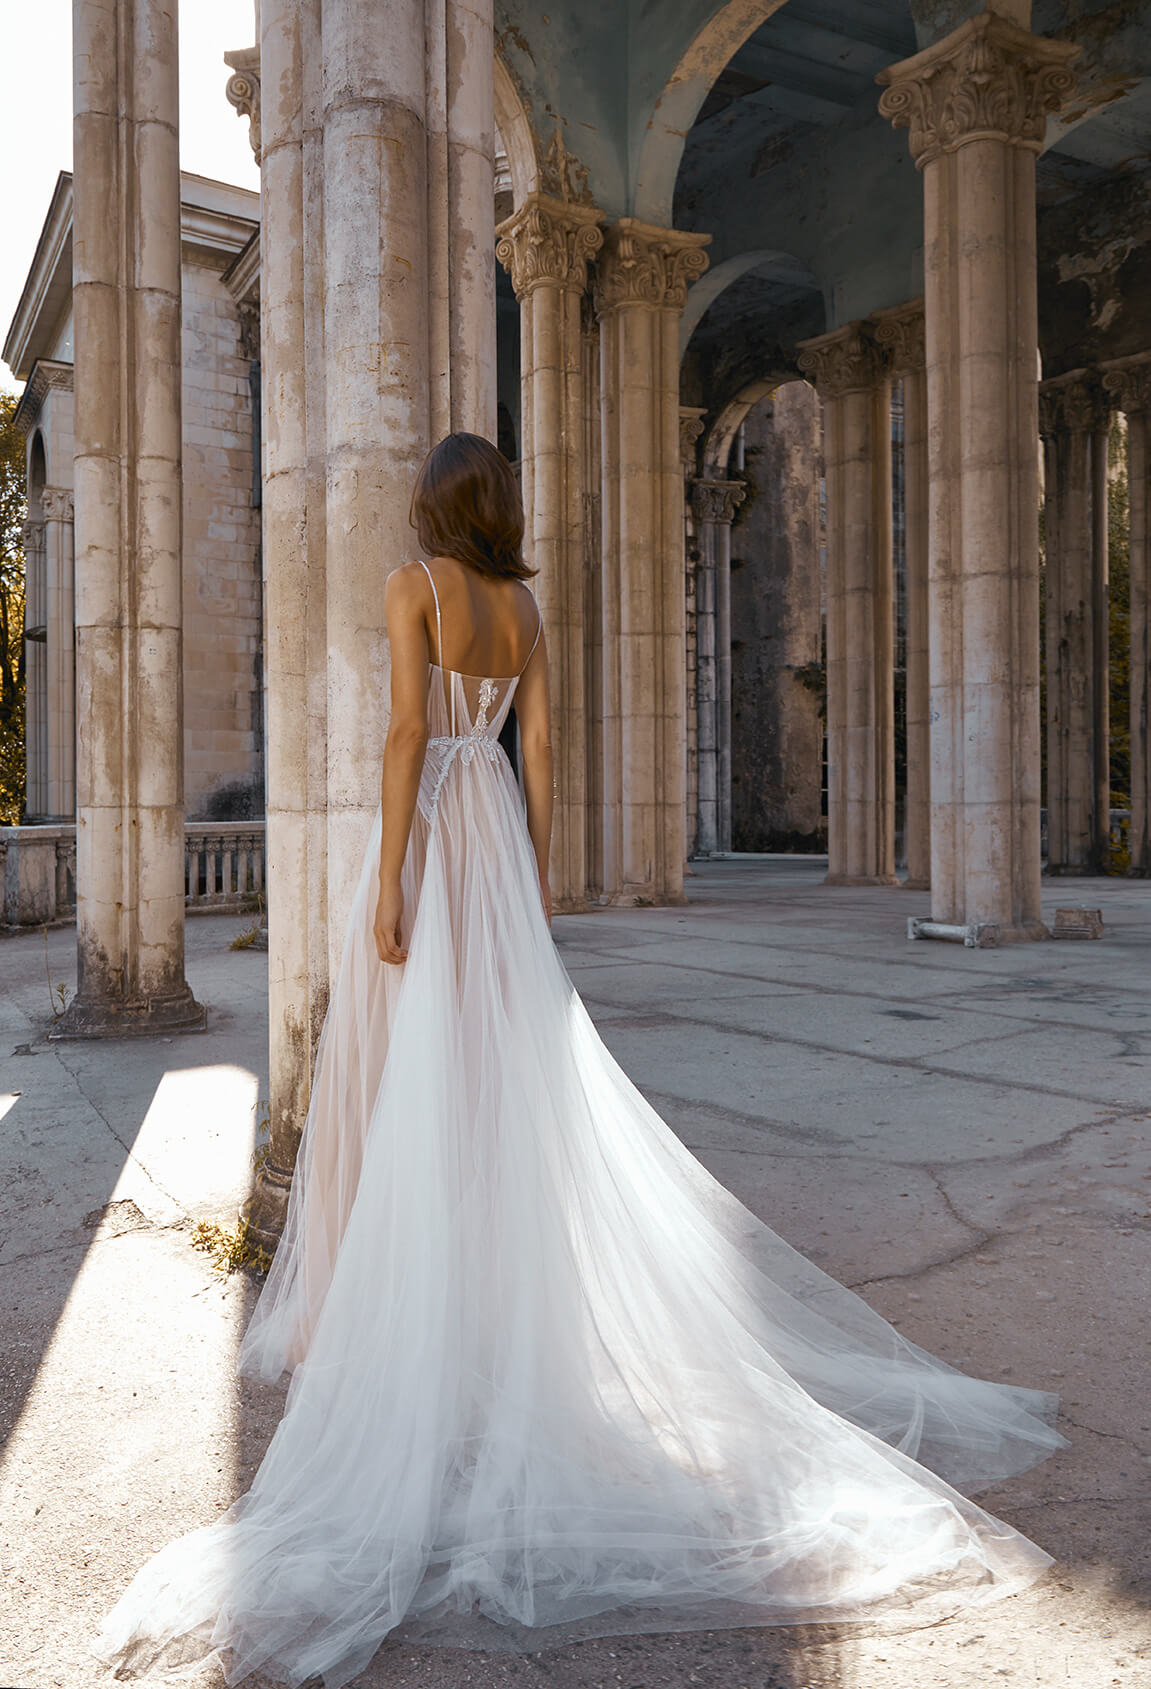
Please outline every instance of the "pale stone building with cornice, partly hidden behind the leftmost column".
[{"label": "pale stone building with cornice, partly hidden behind the leftmost column", "polygon": [[[264,812],[259,194],[181,176],[183,718],[188,817]],[[27,821],[76,814],[73,179],[44,221],[5,361],[27,441]]]}]

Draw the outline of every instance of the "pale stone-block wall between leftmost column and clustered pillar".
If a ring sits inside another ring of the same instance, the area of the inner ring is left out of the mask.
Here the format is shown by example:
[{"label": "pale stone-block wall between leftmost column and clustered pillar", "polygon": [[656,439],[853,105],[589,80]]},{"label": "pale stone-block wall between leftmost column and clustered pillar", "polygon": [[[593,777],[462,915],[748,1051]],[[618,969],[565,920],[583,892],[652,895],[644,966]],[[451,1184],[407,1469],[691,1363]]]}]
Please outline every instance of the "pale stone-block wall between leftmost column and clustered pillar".
[{"label": "pale stone-block wall between leftmost column and clustered pillar", "polygon": [[225,253],[184,253],[184,794],[188,817],[264,812],[260,524],[250,361]]}]

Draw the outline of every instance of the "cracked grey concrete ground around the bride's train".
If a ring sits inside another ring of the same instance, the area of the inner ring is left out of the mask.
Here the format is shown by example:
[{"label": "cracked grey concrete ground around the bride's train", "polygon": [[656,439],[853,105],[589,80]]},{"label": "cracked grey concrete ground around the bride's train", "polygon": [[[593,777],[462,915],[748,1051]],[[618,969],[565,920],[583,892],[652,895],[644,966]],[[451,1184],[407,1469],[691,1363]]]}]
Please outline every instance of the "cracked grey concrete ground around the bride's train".
[{"label": "cracked grey concrete ground around the bride's train", "polygon": [[[811,860],[698,865],[686,909],[556,922],[603,1037],[750,1208],[918,1343],[1063,1393],[1068,1449],[984,1503],[1056,1566],[901,1635],[759,1630],[531,1657],[385,1645],[362,1689],[1146,1689],[1151,1684],[1151,885],[1051,882],[1102,942],[904,937],[926,897]],[[0,941],[0,1686],[91,1689],[128,1576],[250,1481],[257,1285],[189,1245],[250,1179],[267,958],[189,922],[210,1030],[49,1044],[68,929]],[[257,1689],[255,1681],[250,1681]],[[201,1672],[196,1689],[218,1689]]]}]

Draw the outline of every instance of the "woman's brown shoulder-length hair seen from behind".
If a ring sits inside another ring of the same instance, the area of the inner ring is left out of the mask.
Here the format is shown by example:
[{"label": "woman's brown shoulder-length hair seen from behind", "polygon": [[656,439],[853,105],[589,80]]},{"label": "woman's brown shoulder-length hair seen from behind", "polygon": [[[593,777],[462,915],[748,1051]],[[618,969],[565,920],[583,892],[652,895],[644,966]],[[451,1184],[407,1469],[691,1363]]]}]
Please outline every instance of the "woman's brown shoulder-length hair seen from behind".
[{"label": "woman's brown shoulder-length hair seen from behind", "polygon": [[524,507],[512,466],[478,434],[448,434],[416,476],[411,524],[426,557],[456,557],[480,574],[524,581]]}]

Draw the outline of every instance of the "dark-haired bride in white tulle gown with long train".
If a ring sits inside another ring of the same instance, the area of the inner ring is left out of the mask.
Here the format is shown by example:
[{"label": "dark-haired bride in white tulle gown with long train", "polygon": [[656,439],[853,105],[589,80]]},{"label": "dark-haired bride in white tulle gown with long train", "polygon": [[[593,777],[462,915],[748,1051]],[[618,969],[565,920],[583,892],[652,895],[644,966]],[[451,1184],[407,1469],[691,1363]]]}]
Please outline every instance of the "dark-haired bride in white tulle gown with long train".
[{"label": "dark-haired bride in white tulle gown with long train", "polygon": [[[1050,1557],[960,1491],[1063,1439],[762,1226],[600,1042],[549,936],[548,657],[509,464],[414,493],[392,714],[282,1243],[242,1370],[292,1370],[250,1491],[96,1643],[338,1689],[392,1632],[931,1620]],[[499,733],[515,704],[526,804]]]}]

